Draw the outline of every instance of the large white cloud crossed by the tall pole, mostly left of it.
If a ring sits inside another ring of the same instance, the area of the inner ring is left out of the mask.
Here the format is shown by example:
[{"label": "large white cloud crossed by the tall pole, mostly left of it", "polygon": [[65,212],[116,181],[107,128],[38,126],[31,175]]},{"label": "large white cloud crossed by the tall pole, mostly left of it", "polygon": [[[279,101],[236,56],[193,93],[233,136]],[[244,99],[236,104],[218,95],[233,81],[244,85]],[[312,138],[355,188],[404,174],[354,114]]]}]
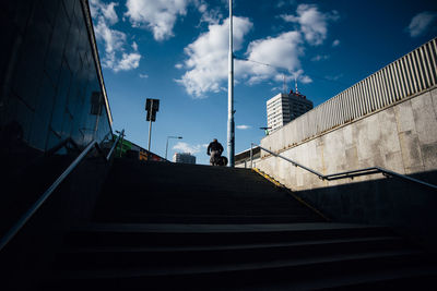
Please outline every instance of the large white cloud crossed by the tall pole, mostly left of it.
[{"label": "large white cloud crossed by the tall pole, mostly left of it", "polygon": [[[228,25],[228,19],[222,24],[210,24],[206,33],[185,48],[188,59],[184,65],[188,71],[176,82],[182,84],[189,95],[203,98],[208,92],[221,90],[221,82],[227,77]],[[234,16],[235,50],[241,48],[251,27],[249,19]]]}]

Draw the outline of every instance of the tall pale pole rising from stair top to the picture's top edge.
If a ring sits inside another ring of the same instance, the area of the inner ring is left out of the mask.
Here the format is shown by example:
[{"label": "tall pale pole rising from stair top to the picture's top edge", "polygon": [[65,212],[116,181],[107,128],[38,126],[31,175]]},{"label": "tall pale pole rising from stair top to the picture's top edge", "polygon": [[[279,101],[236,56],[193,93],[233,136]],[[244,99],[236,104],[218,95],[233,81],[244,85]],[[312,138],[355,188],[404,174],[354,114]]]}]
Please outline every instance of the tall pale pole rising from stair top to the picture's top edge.
[{"label": "tall pale pole rising from stair top to the picture's top edge", "polygon": [[235,124],[234,124],[234,53],[233,53],[233,11],[229,0],[229,56],[228,56],[228,83],[227,83],[227,155],[229,167],[234,168],[235,154]]}]

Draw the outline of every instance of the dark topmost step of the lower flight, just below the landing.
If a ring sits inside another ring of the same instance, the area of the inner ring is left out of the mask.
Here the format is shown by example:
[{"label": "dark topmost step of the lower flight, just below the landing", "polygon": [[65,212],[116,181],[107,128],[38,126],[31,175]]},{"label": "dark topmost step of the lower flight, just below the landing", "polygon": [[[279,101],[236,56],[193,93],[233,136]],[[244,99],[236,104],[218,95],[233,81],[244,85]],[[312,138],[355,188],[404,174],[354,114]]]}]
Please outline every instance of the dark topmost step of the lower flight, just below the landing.
[{"label": "dark topmost step of the lower flight, just below the landing", "polygon": [[378,226],[347,223],[262,223],[262,225],[181,225],[181,223],[93,223],[66,237],[71,247],[94,246],[208,246],[271,244],[317,240],[370,239],[393,235]]}]

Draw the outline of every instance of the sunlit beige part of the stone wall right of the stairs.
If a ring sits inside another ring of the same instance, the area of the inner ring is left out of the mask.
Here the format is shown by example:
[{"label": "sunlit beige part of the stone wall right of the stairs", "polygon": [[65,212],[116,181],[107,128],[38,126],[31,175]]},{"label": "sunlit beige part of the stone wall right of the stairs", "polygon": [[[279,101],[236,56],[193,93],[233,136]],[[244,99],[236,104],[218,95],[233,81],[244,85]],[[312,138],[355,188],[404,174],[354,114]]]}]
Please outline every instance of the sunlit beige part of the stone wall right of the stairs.
[{"label": "sunlit beige part of the stone wall right of the stairs", "polygon": [[[379,166],[402,174],[437,170],[437,88],[415,95],[359,120],[290,146],[292,123],[261,146],[323,174]],[[321,181],[290,162],[261,151],[257,167],[294,191],[381,179],[381,174]],[[433,181],[429,181],[433,182]],[[434,181],[437,183],[437,181]]]}]

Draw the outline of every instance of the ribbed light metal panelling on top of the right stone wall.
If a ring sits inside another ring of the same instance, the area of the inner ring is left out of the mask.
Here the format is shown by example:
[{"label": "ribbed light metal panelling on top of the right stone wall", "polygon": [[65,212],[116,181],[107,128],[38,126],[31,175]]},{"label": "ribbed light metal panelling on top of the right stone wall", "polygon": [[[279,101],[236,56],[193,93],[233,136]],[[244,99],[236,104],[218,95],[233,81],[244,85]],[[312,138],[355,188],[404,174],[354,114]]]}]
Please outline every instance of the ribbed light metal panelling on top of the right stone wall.
[{"label": "ribbed light metal panelling on top of the right stone wall", "polygon": [[304,141],[358,119],[437,83],[437,38],[390,63],[311,111],[292,121]]}]

